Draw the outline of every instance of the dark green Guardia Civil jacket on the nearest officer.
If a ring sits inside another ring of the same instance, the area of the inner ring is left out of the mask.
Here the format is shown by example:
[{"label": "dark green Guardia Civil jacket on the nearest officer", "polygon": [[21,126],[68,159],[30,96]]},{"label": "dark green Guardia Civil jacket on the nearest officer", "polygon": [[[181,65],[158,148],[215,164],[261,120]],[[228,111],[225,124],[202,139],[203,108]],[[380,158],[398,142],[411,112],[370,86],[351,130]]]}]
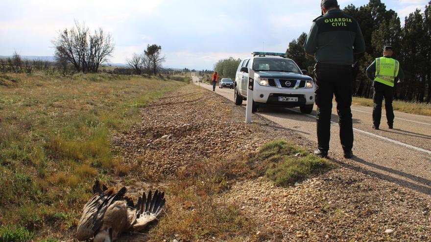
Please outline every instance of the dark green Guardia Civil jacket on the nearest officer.
[{"label": "dark green Guardia Civil jacket on the nearest officer", "polygon": [[353,54],[365,51],[365,41],[354,18],[332,9],[313,20],[304,49],[317,63],[352,65]]}]

